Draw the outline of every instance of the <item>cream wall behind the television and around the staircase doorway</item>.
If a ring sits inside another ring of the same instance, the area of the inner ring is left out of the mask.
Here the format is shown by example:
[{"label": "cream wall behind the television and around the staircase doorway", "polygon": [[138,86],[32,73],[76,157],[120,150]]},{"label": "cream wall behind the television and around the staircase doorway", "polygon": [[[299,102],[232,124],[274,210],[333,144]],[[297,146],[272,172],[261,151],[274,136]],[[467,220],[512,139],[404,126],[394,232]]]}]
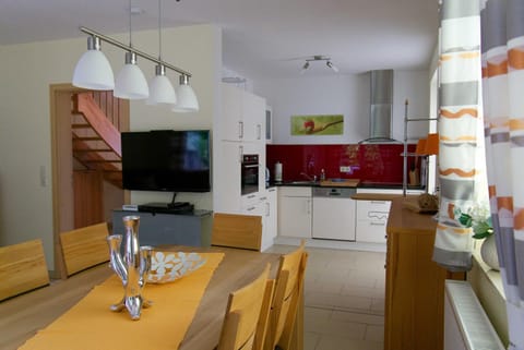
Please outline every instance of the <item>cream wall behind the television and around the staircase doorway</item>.
[{"label": "cream wall behind the television and around the staircase doorway", "polygon": [[[157,35],[156,31],[133,33],[133,46],[154,55],[158,50]],[[128,40],[128,35],[112,37]],[[179,114],[133,101],[132,130],[211,129],[222,65],[219,37],[219,29],[210,25],[163,32],[163,58],[194,74],[191,84],[201,110]],[[0,245],[41,238],[49,267],[53,266],[49,85],[70,83],[85,49],[85,36],[0,47]],[[118,74],[123,51],[108,44],[103,44],[103,51]],[[147,77],[154,75],[153,63],[139,58],[139,65]],[[178,75],[168,75],[177,82]],[[40,168],[47,179],[44,185]],[[152,200],[147,193],[139,197]],[[211,194],[199,195],[198,201],[209,207]]]}]

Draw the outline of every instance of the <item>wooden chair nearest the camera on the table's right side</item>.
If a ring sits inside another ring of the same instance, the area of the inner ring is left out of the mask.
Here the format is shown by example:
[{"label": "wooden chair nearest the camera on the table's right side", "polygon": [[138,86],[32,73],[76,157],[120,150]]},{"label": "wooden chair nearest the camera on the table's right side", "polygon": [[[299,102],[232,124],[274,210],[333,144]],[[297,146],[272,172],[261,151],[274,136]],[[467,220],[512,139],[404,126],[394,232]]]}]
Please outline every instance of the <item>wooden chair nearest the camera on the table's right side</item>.
[{"label": "wooden chair nearest the camera on the table's right side", "polygon": [[270,264],[254,281],[229,294],[217,350],[262,350],[255,333],[259,325],[264,333],[267,324],[274,289],[269,274]]}]

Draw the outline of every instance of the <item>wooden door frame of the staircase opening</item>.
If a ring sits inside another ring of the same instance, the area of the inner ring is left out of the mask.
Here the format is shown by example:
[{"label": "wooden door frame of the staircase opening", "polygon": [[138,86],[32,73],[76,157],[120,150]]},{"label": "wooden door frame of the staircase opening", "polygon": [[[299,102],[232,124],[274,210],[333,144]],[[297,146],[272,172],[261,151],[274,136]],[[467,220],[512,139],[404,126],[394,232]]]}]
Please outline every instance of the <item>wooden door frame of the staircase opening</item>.
[{"label": "wooden door frame of the staircase opening", "polygon": [[[73,228],[73,212],[66,210],[62,206],[72,206],[71,192],[62,190],[66,181],[72,184],[72,142],[71,142],[71,123],[67,125],[61,123],[61,119],[71,117],[71,94],[86,92],[85,89],[75,87],[71,84],[51,84],[49,85],[49,108],[50,108],[50,134],[51,134],[51,177],[52,177],[52,238],[53,238],[53,269],[50,271],[52,278],[67,278],[66,266],[63,264],[62,250],[60,245],[60,232],[71,230]],[[66,100],[68,105],[66,105]],[[123,122],[121,130],[129,130],[129,101],[124,104],[128,118]],[[122,125],[122,124],[121,124]],[[67,133],[67,134],[66,134]],[[69,142],[67,141],[69,140]],[[69,164],[71,166],[69,167]],[[63,169],[70,168],[68,173]],[[64,193],[68,192],[68,193]],[[129,203],[130,192],[123,192],[124,203]]]}]

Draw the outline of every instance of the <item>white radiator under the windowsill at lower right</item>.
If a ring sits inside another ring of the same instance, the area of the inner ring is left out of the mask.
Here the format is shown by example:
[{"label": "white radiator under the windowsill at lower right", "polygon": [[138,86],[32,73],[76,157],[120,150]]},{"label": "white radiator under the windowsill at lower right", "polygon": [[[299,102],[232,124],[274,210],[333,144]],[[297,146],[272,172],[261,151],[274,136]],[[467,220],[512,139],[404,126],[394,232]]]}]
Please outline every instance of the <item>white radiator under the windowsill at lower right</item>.
[{"label": "white radiator under the windowsill at lower right", "polygon": [[504,350],[466,281],[445,281],[444,350]]}]

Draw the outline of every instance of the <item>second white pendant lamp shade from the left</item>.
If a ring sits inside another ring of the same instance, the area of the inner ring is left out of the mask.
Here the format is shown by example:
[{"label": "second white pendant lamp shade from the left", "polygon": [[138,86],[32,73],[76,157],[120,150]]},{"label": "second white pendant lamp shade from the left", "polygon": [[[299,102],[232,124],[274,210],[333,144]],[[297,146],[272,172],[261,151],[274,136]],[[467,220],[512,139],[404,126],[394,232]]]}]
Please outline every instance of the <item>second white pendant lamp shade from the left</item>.
[{"label": "second white pendant lamp shade from the left", "polygon": [[144,99],[150,96],[147,81],[136,65],[136,53],[126,52],[126,64],[118,73],[112,94],[127,99]]}]

